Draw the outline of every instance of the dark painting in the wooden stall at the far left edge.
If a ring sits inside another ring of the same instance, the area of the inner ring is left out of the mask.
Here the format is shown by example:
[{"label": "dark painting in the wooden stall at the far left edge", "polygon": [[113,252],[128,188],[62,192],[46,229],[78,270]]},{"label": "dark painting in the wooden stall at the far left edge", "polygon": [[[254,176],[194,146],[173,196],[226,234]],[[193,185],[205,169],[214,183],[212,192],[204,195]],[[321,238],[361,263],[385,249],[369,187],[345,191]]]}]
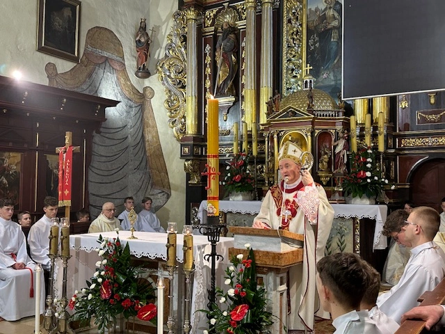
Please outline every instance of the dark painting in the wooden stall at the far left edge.
[{"label": "dark painting in the wooden stall at the far left edge", "polygon": [[0,198],[10,198],[15,206],[20,199],[20,170],[22,154],[0,152]]}]

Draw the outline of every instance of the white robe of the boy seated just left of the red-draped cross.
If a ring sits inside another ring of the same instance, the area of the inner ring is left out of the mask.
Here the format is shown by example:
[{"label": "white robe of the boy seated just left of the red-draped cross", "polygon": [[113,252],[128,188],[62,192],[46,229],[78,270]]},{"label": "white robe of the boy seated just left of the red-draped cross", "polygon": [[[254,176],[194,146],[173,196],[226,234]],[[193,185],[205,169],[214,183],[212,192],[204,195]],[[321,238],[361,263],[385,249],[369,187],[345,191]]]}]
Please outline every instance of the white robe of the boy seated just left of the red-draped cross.
[{"label": "white robe of the boy seated just left of the red-draped cross", "polygon": [[42,218],[40,218],[34,225],[31,226],[28,234],[28,244],[31,257],[35,262],[41,263],[43,269],[45,270],[49,270],[51,267],[48,257],[50,231],[51,218],[42,216]]}]

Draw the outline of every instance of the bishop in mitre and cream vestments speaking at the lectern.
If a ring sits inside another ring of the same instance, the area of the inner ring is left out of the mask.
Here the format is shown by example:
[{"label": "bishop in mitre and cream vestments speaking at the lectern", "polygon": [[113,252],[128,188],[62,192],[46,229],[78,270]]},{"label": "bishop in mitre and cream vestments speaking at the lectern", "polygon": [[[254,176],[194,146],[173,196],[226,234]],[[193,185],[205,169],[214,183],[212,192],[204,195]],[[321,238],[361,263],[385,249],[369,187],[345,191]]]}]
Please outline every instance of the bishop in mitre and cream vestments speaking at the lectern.
[{"label": "bishop in mitre and cream vestments speaking at the lectern", "polygon": [[254,228],[284,229],[304,234],[303,263],[289,271],[291,315],[289,329],[314,329],[314,314],[330,319],[319,308],[316,294],[316,262],[324,256],[334,209],[325,190],[302,169],[302,150],[287,141],[280,150],[279,166],[282,181],[272,186],[261,210],[254,218]]}]

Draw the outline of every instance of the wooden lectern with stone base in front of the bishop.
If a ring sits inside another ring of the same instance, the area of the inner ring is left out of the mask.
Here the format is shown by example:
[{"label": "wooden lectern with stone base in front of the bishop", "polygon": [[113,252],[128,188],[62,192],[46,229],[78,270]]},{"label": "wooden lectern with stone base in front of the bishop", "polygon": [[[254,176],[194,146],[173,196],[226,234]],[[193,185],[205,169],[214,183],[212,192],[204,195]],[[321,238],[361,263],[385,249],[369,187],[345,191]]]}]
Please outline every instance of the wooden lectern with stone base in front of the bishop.
[{"label": "wooden lectern with stone base in front of the bishop", "polygon": [[229,248],[229,257],[248,256],[245,244],[250,244],[257,264],[257,284],[265,285],[270,300],[268,311],[275,319],[271,333],[286,333],[287,324],[287,273],[290,267],[301,265],[303,259],[302,234],[286,230],[263,230],[229,226],[234,234],[234,248]]}]

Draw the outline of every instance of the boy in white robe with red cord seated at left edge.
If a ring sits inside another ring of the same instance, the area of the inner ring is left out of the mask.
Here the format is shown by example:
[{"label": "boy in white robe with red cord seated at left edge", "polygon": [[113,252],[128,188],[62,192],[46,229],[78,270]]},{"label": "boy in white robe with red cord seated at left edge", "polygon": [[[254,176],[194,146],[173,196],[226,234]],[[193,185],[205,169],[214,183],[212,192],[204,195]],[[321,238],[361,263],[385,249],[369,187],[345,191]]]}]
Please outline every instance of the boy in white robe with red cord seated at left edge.
[{"label": "boy in white robe with red cord seated at left edge", "polygon": [[[26,252],[20,226],[11,221],[14,202],[0,199],[0,319],[15,321],[35,315],[34,262]],[[44,311],[44,279],[40,272],[40,314]]]}]

